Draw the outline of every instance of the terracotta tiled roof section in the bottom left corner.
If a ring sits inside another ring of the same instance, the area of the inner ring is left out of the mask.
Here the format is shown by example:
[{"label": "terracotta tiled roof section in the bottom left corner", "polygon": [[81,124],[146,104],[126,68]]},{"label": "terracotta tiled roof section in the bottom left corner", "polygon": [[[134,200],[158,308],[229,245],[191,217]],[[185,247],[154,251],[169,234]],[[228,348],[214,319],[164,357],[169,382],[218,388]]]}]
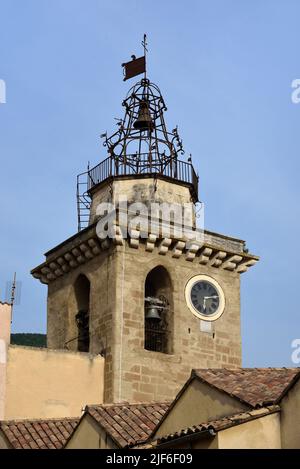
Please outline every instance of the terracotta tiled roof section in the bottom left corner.
[{"label": "terracotta tiled roof section in the bottom left corner", "polygon": [[14,449],[60,449],[78,419],[11,420],[0,422],[0,431]]}]

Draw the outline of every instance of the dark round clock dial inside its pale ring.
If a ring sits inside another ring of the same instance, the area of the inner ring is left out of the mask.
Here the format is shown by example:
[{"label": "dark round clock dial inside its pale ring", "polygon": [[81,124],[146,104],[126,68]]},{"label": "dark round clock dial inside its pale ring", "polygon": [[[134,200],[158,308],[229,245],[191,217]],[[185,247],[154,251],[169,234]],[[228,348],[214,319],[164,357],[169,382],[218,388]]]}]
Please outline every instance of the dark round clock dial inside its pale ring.
[{"label": "dark round clock dial inside its pale ring", "polygon": [[219,308],[220,297],[212,283],[200,280],[194,283],[191,288],[191,302],[199,313],[211,316]]}]

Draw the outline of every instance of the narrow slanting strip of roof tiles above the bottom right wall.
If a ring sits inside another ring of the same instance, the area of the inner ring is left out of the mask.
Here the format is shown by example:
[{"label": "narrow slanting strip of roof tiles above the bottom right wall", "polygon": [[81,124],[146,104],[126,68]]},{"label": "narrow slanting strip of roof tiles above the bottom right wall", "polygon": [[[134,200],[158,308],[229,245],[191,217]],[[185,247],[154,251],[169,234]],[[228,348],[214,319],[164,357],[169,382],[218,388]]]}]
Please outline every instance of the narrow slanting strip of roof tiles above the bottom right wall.
[{"label": "narrow slanting strip of roof tiles above the bottom right wall", "polygon": [[254,420],[259,417],[265,417],[266,415],[270,415],[271,413],[279,411],[280,407],[275,405],[222,417],[217,420],[201,423],[200,425],[193,425],[183,430],[170,433],[169,435],[164,435],[159,437],[155,442],[152,442],[152,445],[160,445],[171,440],[176,440],[177,438],[183,438],[185,436],[195,435],[197,433],[199,434],[207,432],[208,436],[214,436],[215,433],[220,430],[225,430],[226,428],[233,427],[234,425],[240,425],[241,423],[249,422],[250,420]]}]

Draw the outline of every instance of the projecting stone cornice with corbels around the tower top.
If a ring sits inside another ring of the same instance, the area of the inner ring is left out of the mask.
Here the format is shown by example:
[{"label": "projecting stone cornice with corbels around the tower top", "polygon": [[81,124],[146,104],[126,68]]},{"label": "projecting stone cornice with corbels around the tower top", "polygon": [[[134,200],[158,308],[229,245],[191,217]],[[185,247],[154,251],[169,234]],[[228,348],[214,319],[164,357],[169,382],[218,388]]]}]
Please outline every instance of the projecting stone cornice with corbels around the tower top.
[{"label": "projecting stone cornice with corbels around the tower top", "polygon": [[162,256],[169,255],[174,259],[181,257],[187,262],[238,273],[246,272],[259,260],[257,256],[244,252],[243,241],[216,233],[204,232],[203,243],[172,236],[163,237],[157,233],[149,233],[147,238],[141,238],[138,230],[130,230],[124,239],[121,228],[115,225],[114,238],[101,241],[96,234],[96,226],[92,225],[49,251],[46,261],[34,268],[31,274],[48,284],[94,259],[109,247],[123,246],[124,243],[131,249],[156,251]]}]

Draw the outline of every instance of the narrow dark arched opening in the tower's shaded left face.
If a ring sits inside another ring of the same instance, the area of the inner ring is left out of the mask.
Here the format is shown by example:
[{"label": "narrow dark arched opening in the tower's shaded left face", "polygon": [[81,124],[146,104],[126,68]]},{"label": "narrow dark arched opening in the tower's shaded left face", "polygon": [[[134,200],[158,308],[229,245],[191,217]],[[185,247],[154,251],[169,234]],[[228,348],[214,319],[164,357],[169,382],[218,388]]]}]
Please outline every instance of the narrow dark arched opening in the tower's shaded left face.
[{"label": "narrow dark arched opening in the tower's shaded left face", "polygon": [[88,352],[90,348],[90,281],[80,274],[74,283],[77,312],[75,321],[78,328],[79,352]]}]

